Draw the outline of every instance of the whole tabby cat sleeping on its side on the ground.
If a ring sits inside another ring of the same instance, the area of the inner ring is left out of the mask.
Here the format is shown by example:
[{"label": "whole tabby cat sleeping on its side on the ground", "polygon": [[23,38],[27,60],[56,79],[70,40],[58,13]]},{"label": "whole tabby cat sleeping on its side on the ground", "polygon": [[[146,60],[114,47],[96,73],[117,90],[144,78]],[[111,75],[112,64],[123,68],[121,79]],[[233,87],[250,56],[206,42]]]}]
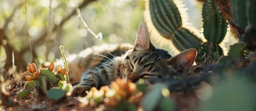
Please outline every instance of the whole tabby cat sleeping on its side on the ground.
[{"label": "whole tabby cat sleeping on its side on the ground", "polygon": [[85,49],[79,54],[80,56],[78,55],[79,57],[75,57],[79,64],[77,68],[90,68],[74,86],[75,95],[85,94],[85,91],[89,91],[91,87],[100,88],[109,85],[117,78],[136,82],[139,78],[147,80],[161,78],[166,74],[184,73],[193,65],[196,56],[195,49],[187,49],[174,57],[163,49],[156,49],[150,42],[144,22],[139,26],[134,48],[129,44],[105,46],[107,48],[101,46]]}]

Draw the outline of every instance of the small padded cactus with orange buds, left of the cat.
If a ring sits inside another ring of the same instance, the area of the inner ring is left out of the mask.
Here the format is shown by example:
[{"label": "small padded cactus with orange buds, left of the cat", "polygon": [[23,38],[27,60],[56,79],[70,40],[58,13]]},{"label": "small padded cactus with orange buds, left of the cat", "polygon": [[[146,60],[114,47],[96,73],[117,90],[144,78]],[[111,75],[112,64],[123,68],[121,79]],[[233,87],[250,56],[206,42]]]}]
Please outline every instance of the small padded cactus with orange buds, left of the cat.
[{"label": "small padded cactus with orange buds, left of the cat", "polygon": [[67,75],[66,68],[60,67],[58,68],[58,72],[55,72],[53,71],[54,66],[54,62],[51,62],[48,69],[37,69],[35,63],[28,63],[27,70],[32,74],[32,77],[29,75],[26,76],[28,81],[25,83],[24,90],[18,93],[18,96],[27,96],[30,90],[35,87],[39,94],[40,92],[47,94],[50,99],[58,100],[64,97],[71,90],[72,85],[64,77],[64,75]]}]

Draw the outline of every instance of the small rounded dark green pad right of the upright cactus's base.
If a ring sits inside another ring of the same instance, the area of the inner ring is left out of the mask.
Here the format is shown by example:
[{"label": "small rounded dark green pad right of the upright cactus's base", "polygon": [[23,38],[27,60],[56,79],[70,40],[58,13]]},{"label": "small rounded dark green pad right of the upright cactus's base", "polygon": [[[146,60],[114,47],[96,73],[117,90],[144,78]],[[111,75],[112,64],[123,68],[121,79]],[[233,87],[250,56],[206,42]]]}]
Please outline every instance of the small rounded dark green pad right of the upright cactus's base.
[{"label": "small rounded dark green pad right of the upright cactus's base", "polygon": [[228,51],[228,56],[232,58],[241,58],[244,55],[245,46],[242,43],[235,43]]}]

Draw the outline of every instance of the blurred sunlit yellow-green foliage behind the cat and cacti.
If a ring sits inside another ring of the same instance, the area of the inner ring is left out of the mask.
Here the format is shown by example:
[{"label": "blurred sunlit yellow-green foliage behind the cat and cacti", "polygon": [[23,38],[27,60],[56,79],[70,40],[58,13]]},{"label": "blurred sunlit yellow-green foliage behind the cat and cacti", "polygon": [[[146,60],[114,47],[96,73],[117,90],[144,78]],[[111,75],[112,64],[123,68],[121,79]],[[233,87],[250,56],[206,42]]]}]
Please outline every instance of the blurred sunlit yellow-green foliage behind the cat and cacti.
[{"label": "blurred sunlit yellow-green foliage behind the cat and cacti", "polygon": [[[102,32],[101,42],[78,18],[75,0],[0,0],[0,68],[12,64],[12,52],[17,68],[26,68],[28,62],[43,63],[60,58],[60,45],[66,53],[78,53],[103,43],[135,42],[138,25],[144,19],[144,0],[76,1],[90,29],[96,34]],[[200,30],[201,3],[183,1],[190,22]],[[159,48],[159,43],[153,40],[152,43]],[[162,49],[169,50],[168,47]]]}]

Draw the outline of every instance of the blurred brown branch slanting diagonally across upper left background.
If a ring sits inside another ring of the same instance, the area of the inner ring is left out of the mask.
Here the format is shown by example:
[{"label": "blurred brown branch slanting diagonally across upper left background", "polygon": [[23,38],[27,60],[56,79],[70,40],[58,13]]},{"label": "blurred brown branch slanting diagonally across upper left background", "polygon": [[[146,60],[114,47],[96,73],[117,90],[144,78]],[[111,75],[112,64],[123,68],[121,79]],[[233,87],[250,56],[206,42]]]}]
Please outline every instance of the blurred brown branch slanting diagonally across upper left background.
[{"label": "blurred brown branch slanting diagonally across upper left background", "polygon": [[[91,1],[96,1],[96,0],[83,0],[83,2],[78,6],[78,8],[82,9],[83,7],[85,7]],[[69,13],[69,15],[66,18],[62,19],[62,21],[60,22],[59,25],[54,25],[54,28],[53,28],[52,32],[55,32],[59,27],[62,27],[62,25],[64,25],[64,23],[66,21],[68,21],[75,14],[76,14],[76,8],[73,9],[73,11],[71,13]],[[38,39],[32,41],[32,47],[35,47],[36,45],[39,45],[42,42],[44,42],[45,37],[47,37],[47,36],[48,36],[47,31],[42,32],[41,36],[37,37]],[[21,54],[26,52],[28,49],[29,49],[29,45],[26,45],[23,49],[21,49]]]}]

